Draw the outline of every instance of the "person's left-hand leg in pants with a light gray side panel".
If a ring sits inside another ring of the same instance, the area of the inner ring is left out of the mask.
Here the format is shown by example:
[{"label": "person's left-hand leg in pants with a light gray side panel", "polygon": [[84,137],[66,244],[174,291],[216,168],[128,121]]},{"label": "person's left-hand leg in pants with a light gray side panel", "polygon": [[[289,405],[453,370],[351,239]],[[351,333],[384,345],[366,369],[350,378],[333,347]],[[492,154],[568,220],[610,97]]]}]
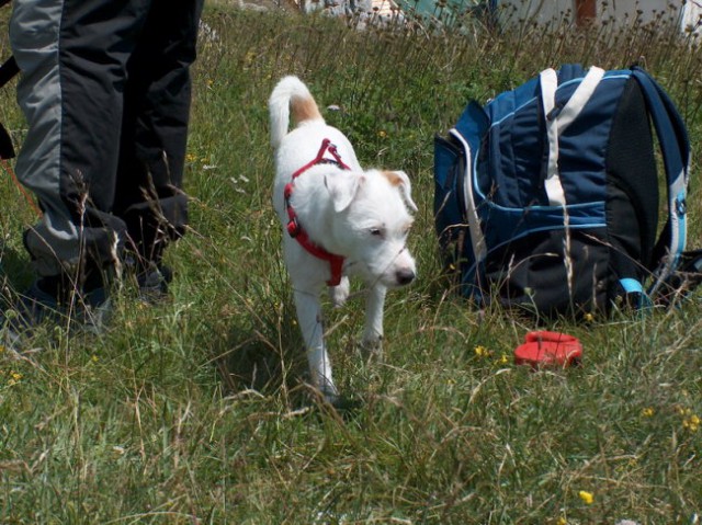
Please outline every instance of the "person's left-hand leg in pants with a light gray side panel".
[{"label": "person's left-hand leg in pants with a light gray side panel", "polygon": [[118,261],[126,226],[111,212],[122,98],[149,3],[13,2],[18,102],[29,124],[16,172],[43,209],[24,240],[44,290],[59,298],[68,286],[97,286]]}]

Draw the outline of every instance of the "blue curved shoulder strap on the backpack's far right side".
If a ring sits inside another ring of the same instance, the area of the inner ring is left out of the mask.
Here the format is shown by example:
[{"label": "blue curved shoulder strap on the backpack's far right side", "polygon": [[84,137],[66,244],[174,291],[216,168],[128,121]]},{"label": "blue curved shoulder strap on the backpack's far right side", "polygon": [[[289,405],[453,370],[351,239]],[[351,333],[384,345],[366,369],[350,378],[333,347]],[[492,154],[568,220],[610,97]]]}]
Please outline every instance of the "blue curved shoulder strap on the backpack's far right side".
[{"label": "blue curved shoulder strap on the backpack's far right side", "polygon": [[677,269],[687,242],[686,198],[690,168],[690,139],[675,104],[664,89],[643,69],[632,68],[643,89],[663,153],[668,187],[668,221],[654,254],[656,281],[649,289],[654,296],[660,284]]}]

